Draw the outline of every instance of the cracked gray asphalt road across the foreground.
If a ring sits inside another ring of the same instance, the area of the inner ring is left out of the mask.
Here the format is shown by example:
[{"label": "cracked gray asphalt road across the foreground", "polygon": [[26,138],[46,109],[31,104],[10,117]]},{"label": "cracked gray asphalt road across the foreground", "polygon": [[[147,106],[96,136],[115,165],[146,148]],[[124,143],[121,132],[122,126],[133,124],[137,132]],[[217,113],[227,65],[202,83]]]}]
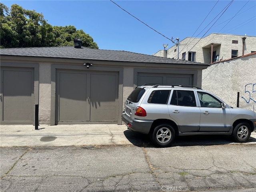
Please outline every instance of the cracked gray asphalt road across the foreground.
[{"label": "cracked gray asphalt road across the foreground", "polygon": [[1,192],[256,191],[255,144],[182,137],[156,148],[140,136],[131,145],[2,147]]}]

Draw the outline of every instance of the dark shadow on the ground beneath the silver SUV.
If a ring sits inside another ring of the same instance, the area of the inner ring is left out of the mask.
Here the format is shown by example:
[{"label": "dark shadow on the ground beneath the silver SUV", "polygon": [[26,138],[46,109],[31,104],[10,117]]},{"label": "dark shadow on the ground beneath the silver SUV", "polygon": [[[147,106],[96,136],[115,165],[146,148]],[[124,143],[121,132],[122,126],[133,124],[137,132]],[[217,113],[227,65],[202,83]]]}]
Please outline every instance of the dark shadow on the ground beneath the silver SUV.
[{"label": "dark shadow on the ground beneath the silver SUV", "polygon": [[[138,147],[156,147],[150,141],[146,134],[133,132],[132,130],[124,131],[126,138],[135,146]],[[250,144],[256,142],[256,139],[250,137],[246,142]],[[172,146],[208,146],[208,145],[223,145],[234,143],[232,136],[229,135],[195,135],[195,136],[176,136]]]}]

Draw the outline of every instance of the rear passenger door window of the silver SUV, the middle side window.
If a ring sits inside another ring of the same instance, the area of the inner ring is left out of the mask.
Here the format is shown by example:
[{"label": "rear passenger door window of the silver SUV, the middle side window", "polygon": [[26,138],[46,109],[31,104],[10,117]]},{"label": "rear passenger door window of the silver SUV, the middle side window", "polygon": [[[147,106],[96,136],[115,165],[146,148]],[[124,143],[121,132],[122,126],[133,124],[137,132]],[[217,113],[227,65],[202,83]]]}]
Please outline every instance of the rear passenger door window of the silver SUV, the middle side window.
[{"label": "rear passenger door window of the silver SUV, the middle side window", "polygon": [[172,99],[170,104],[195,107],[196,99],[195,99],[194,91],[174,90],[172,93]]}]

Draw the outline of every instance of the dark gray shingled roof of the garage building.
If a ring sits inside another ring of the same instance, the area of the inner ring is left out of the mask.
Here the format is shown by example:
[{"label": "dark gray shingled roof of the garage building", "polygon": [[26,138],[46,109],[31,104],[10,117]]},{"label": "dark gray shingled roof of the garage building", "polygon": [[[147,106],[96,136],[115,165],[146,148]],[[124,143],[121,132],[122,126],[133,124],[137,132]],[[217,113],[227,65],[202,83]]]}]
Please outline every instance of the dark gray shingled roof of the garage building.
[{"label": "dark gray shingled roof of the garage building", "polygon": [[145,63],[166,63],[166,64],[193,64],[208,65],[204,63],[176,60],[151,56],[146,54],[133,53],[128,51],[101,50],[87,47],[74,48],[65,47],[33,47],[33,48],[3,48],[0,49],[1,56],[30,56],[46,58],[72,58],[102,61],[121,61],[121,62],[145,62]]}]

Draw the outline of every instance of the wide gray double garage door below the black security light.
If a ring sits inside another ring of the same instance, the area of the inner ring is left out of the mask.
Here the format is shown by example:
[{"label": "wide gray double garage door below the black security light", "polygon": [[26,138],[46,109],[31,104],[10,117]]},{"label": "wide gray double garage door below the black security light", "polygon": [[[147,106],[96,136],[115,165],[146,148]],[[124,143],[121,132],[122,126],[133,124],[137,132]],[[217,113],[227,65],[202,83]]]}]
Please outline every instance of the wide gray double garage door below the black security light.
[{"label": "wide gray double garage door below the black security light", "polygon": [[117,123],[118,72],[57,70],[55,124]]}]

